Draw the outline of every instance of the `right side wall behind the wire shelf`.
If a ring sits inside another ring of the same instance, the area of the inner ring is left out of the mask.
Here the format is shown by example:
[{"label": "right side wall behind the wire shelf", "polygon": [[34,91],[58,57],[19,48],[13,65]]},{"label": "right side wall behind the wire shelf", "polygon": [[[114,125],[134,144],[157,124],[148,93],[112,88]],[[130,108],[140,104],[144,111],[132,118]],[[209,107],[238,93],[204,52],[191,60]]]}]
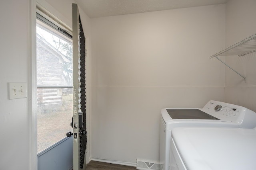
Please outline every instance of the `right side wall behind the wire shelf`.
[{"label": "right side wall behind the wire shelf", "polygon": [[[226,4],[226,47],[256,33],[256,1],[229,0]],[[226,62],[240,74],[226,68],[225,101],[256,111],[256,53],[226,57]]]}]

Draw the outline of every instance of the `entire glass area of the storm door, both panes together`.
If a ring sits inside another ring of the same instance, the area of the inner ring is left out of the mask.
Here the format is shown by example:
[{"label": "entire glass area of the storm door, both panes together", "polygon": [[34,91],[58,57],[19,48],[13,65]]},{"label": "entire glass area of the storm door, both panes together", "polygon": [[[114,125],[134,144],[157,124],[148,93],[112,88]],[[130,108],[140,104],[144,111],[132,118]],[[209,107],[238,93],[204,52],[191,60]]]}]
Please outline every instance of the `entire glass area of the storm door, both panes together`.
[{"label": "entire glass area of the storm door, both panes together", "polygon": [[38,153],[72,131],[72,39],[37,21]]}]

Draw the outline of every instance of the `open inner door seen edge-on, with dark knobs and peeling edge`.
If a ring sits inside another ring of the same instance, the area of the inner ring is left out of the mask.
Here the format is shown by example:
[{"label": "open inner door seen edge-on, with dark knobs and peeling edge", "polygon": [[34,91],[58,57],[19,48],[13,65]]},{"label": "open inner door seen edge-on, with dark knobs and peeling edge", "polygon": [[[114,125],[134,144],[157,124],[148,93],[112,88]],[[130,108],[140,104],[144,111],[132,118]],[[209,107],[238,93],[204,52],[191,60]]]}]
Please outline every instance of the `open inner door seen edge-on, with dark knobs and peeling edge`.
[{"label": "open inner door seen edge-on, with dark knobs and peeling edge", "polygon": [[85,94],[85,37],[77,4],[72,4],[73,16],[73,118],[70,125],[73,133],[73,170],[81,170],[84,166],[86,135],[86,94]]}]

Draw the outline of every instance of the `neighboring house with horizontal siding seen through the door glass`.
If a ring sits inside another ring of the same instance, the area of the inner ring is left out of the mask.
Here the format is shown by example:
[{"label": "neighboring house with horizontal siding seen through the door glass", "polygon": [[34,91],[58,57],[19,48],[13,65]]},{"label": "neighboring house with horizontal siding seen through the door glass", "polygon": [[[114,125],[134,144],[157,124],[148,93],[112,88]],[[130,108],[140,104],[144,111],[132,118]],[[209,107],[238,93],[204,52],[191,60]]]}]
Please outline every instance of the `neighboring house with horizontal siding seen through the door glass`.
[{"label": "neighboring house with horizontal siding seen through the door glass", "polygon": [[[58,86],[70,86],[72,78],[63,71],[63,63],[72,61],[60,53],[40,35],[36,35],[37,52],[37,102],[39,108],[51,111],[62,106],[62,94],[72,93],[71,88],[59,88]],[[71,82],[70,82],[71,80]],[[46,86],[44,88],[44,86]],[[52,87],[49,87],[52,86]]]}]

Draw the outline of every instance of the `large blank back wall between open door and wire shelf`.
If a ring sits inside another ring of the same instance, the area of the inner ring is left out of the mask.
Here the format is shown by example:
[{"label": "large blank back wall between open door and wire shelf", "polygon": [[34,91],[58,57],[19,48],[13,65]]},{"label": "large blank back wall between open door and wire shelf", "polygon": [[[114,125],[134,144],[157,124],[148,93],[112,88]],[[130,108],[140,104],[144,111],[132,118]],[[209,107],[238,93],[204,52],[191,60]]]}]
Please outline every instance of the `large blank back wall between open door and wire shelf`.
[{"label": "large blank back wall between open door and wire shelf", "polygon": [[224,101],[225,5],[92,19],[92,158],[159,160],[160,109]]}]

